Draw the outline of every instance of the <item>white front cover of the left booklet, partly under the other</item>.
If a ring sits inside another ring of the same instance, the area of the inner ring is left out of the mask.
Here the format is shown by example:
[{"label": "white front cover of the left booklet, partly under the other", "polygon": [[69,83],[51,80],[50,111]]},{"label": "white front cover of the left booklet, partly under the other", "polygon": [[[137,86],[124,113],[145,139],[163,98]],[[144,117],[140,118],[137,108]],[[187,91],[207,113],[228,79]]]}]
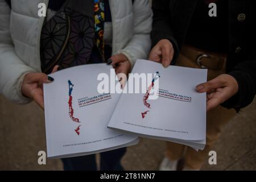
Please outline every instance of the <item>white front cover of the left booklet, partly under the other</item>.
[{"label": "white front cover of the left booklet, partly under the other", "polygon": [[50,75],[55,81],[44,84],[48,157],[102,150],[137,139],[107,128],[120,95],[97,100],[101,95],[97,76],[110,75],[110,68],[106,64],[83,65]]}]

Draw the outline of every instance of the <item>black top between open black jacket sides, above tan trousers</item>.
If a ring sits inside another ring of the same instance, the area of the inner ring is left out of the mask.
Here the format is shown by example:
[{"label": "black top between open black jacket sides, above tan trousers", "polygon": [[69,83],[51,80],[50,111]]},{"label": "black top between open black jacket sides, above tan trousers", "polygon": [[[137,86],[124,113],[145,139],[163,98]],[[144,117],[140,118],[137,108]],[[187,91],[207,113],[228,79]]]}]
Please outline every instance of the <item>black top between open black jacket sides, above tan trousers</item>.
[{"label": "black top between open black jacket sides, above tan trousers", "polygon": [[185,43],[209,52],[228,53],[228,1],[219,0],[217,16],[209,16],[209,3],[197,2]]}]

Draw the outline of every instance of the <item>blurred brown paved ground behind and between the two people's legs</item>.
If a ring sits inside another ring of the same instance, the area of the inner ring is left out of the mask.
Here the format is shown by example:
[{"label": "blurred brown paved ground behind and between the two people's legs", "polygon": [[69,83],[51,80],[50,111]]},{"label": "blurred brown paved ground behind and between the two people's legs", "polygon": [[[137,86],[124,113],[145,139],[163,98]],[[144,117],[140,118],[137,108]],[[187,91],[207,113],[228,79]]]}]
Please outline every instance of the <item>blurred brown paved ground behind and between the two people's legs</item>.
[{"label": "blurred brown paved ground behind and between the two people's legs", "polygon": [[[35,103],[11,104],[0,96],[0,170],[62,170],[60,160],[38,165],[38,151],[46,151],[43,111]],[[122,160],[127,170],[156,170],[164,142],[142,139],[129,147]],[[226,126],[214,150],[217,165],[204,170],[256,170],[256,101]]]}]

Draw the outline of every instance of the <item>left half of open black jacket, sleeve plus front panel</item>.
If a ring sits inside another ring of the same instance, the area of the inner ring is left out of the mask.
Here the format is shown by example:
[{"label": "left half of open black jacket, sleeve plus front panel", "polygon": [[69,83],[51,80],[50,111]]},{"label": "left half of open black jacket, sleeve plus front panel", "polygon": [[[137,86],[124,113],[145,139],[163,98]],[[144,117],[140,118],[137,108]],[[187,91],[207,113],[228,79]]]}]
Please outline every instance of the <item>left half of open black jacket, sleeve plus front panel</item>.
[{"label": "left half of open black jacket, sleeve plus front panel", "polygon": [[174,46],[172,64],[179,57],[196,4],[197,0],[153,0],[152,46],[169,39]]}]

